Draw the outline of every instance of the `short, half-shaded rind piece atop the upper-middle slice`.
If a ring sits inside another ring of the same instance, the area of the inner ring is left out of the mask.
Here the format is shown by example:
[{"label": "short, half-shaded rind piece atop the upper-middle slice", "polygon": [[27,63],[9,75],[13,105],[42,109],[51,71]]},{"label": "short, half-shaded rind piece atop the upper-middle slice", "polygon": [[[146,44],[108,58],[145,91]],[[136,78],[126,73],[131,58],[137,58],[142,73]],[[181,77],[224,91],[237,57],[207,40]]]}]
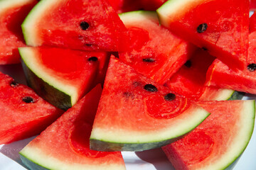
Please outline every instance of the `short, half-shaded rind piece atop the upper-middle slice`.
[{"label": "short, half-shaded rind piece atop the upper-middle slice", "polygon": [[120,13],[119,17],[124,25],[145,20],[151,20],[155,23],[159,23],[159,19],[155,11],[131,11],[127,13]]}]

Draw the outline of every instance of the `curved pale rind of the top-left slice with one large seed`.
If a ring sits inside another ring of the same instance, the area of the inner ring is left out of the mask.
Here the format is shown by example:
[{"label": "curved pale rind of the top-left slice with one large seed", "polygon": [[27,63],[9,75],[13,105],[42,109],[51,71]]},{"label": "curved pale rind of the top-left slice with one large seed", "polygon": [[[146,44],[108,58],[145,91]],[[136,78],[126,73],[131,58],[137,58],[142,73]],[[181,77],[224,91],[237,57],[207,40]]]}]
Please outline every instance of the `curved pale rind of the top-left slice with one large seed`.
[{"label": "curved pale rind of the top-left slice with one large seed", "polygon": [[41,18],[45,13],[49,13],[56,4],[58,4],[58,0],[39,1],[38,4],[32,8],[30,13],[28,13],[28,16],[26,16],[25,20],[21,24],[26,45],[34,47],[42,45],[43,42],[41,40],[40,33],[37,31],[37,24],[41,21]]}]

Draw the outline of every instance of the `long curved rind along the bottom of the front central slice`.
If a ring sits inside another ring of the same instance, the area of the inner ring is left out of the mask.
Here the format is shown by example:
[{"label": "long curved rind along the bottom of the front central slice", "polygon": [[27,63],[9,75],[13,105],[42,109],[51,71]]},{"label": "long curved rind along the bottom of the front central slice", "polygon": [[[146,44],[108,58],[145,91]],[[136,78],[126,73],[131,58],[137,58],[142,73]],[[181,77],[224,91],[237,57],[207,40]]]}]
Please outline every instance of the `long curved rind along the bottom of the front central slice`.
[{"label": "long curved rind along the bottom of the front central slice", "polygon": [[[188,132],[191,132],[205,120],[210,113],[197,107],[184,119],[177,118],[176,125],[150,132],[129,132],[93,127],[90,136],[90,149],[99,151],[143,151],[168,145]],[[182,119],[182,120],[181,120]],[[189,122],[189,123],[186,123]],[[118,132],[119,131],[119,132]],[[131,133],[131,134],[129,134]]]}]

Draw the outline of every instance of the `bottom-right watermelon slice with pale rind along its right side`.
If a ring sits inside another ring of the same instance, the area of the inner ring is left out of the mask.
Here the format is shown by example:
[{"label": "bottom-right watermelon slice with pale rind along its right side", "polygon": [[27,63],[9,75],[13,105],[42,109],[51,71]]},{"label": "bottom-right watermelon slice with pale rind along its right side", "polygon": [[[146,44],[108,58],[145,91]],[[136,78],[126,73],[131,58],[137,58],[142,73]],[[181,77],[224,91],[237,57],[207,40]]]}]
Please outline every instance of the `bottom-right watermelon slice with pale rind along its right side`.
[{"label": "bottom-right watermelon slice with pale rind along its right side", "polygon": [[195,130],[162,147],[175,169],[226,169],[247,147],[255,123],[255,101],[208,101],[211,114]]}]

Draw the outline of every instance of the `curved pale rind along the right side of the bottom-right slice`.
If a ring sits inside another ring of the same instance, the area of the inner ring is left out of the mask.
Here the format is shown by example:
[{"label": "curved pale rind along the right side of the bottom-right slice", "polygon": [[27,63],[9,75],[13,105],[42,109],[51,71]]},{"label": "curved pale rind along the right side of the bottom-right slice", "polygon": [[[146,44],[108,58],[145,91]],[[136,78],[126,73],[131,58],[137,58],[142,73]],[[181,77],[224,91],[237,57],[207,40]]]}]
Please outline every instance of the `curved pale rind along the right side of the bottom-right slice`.
[{"label": "curved pale rind along the right side of the bottom-right slice", "polygon": [[[236,136],[229,142],[228,150],[225,153],[219,154],[215,162],[209,162],[210,164],[203,166],[201,169],[225,169],[235,159],[238,159],[240,154],[245,150],[252,137],[255,124],[255,101],[245,101],[239,113],[240,122],[236,123],[239,131],[236,132]],[[227,165],[227,162],[230,162],[230,164]]]}]

